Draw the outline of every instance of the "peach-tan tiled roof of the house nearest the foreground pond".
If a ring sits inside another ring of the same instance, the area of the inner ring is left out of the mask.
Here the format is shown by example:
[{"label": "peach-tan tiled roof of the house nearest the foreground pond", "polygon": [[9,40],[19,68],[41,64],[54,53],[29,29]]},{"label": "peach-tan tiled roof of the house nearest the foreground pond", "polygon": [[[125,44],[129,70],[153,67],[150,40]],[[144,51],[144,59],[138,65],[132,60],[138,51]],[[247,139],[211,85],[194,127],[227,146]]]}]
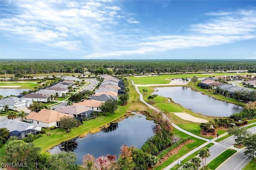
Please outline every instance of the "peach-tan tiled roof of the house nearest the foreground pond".
[{"label": "peach-tan tiled roof of the house nearest the foreground pond", "polygon": [[[64,117],[64,115],[66,114],[58,111],[42,109],[38,113],[32,111],[31,113],[29,113],[29,115],[26,116],[26,119],[41,121],[44,123],[52,123],[52,122],[60,121],[60,118]],[[66,115],[66,116],[70,116],[70,115]]]}]

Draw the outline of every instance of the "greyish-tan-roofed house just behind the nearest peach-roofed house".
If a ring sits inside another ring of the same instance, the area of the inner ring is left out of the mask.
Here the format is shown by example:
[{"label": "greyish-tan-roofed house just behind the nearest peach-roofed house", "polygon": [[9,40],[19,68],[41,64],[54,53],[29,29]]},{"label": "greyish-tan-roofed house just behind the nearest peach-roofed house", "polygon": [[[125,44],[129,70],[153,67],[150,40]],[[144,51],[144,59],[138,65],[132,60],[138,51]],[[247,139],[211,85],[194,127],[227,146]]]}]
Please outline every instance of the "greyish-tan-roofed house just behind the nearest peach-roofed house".
[{"label": "greyish-tan-roofed house just behind the nearest peach-roofed house", "polygon": [[61,113],[66,113],[68,115],[81,118],[87,117],[88,115],[94,112],[89,107],[82,105],[62,106],[60,108],[55,109],[54,111],[59,111]]}]

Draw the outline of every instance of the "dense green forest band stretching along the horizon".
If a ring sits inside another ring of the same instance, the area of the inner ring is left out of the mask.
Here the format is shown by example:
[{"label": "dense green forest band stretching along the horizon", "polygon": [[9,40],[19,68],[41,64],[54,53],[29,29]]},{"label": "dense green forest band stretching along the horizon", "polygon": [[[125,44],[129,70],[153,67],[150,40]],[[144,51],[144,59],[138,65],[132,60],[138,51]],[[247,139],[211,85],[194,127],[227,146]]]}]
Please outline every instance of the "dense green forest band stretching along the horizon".
[{"label": "dense green forest band stretching along the horizon", "polygon": [[[108,70],[107,68],[112,68]],[[254,60],[1,60],[0,74],[84,73],[138,74],[149,72],[187,72],[255,70]]]}]

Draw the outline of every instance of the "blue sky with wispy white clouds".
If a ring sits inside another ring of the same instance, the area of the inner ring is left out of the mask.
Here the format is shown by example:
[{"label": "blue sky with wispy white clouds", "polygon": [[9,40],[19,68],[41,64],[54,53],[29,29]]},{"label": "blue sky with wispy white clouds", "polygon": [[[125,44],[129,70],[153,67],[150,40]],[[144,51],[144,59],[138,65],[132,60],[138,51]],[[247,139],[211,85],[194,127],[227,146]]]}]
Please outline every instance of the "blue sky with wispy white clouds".
[{"label": "blue sky with wispy white clouds", "polygon": [[1,0],[1,59],[256,59],[254,0]]}]

